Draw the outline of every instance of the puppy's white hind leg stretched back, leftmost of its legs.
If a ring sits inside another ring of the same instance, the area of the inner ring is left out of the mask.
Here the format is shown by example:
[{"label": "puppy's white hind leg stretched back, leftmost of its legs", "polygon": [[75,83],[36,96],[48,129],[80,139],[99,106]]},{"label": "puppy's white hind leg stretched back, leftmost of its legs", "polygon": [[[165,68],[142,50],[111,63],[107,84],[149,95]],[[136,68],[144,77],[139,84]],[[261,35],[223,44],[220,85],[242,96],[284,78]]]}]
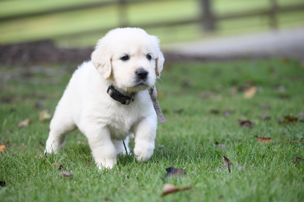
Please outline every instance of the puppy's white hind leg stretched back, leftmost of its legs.
[{"label": "puppy's white hind leg stretched back, leftmost of its legs", "polygon": [[56,154],[60,148],[63,147],[67,133],[74,131],[77,128],[71,118],[60,115],[55,112],[50,123],[50,133],[47,138],[44,151],[45,154],[52,152]]}]

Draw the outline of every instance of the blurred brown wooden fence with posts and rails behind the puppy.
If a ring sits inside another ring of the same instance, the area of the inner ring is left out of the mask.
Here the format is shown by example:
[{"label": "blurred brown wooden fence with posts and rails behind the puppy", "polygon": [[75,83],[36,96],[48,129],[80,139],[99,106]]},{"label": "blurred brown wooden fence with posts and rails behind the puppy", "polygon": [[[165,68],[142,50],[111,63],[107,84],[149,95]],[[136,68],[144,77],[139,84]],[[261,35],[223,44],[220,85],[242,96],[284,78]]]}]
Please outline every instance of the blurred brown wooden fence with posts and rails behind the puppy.
[{"label": "blurred brown wooden fence with posts and rails behind the puppy", "polygon": [[[212,11],[212,0],[198,0],[200,1],[200,10],[201,15],[197,18],[187,19],[187,20],[177,20],[177,21],[169,21],[169,22],[156,22],[156,23],[145,23],[145,24],[136,24],[130,25],[128,23],[127,17],[127,4],[128,3],[144,3],[144,2],[157,2],[161,0],[117,0],[117,1],[104,1],[104,2],[95,2],[95,3],[87,3],[85,5],[75,5],[70,6],[68,8],[54,8],[49,9],[47,11],[36,11],[26,14],[16,14],[11,16],[2,16],[0,17],[0,22],[15,20],[20,18],[28,18],[34,16],[43,16],[50,15],[56,13],[64,13],[69,11],[77,11],[88,8],[96,8],[96,7],[104,7],[109,5],[117,5],[119,8],[119,25],[120,27],[141,27],[141,28],[158,28],[158,27],[170,27],[170,26],[178,26],[178,25],[187,25],[190,23],[199,23],[202,25],[202,30],[206,32],[214,32],[216,31],[216,24],[219,21],[225,21],[230,19],[237,18],[246,18],[252,16],[267,16],[269,18],[269,27],[270,28],[278,28],[278,13],[283,12],[294,12],[304,10],[304,3],[298,5],[285,5],[279,6],[276,0],[269,0],[269,8],[264,9],[256,9],[249,11],[239,11],[233,12],[223,15],[218,15]],[[163,0],[164,1],[164,0]],[[105,28],[97,28],[96,30],[90,31],[81,31],[75,33],[75,35],[85,35],[85,34],[94,34],[99,32],[105,32],[114,27],[105,27]]]}]

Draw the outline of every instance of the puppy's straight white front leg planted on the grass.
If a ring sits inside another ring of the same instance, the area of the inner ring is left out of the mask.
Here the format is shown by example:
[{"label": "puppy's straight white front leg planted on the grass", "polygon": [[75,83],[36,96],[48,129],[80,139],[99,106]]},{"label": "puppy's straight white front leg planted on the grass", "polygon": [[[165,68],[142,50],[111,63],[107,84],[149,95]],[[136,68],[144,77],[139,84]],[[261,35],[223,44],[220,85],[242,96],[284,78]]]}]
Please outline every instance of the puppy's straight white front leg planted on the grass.
[{"label": "puppy's straight white front leg planted on the grass", "polygon": [[116,164],[117,151],[111,141],[109,129],[102,127],[97,131],[92,131],[94,127],[88,127],[88,125],[86,128],[88,130],[85,130],[84,134],[88,138],[95,163],[99,169],[112,169],[113,165]]}]

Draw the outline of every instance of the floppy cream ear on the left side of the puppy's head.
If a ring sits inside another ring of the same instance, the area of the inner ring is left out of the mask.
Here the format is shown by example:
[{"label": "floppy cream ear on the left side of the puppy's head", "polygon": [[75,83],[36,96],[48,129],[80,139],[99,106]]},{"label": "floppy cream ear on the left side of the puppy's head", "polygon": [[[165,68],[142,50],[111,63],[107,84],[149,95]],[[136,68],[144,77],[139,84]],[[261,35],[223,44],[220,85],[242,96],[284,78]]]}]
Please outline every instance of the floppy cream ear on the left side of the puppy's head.
[{"label": "floppy cream ear on the left side of the puppy's head", "polygon": [[111,75],[111,56],[109,46],[103,39],[99,39],[95,50],[92,52],[91,61],[97,71],[105,78],[108,79]]}]

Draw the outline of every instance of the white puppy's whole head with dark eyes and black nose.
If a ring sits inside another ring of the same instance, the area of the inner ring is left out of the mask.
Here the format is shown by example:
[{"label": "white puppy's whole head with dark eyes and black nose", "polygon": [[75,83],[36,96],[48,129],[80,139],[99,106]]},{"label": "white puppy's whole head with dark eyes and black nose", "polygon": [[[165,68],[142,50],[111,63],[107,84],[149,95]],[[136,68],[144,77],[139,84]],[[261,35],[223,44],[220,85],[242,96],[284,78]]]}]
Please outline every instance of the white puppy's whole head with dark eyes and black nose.
[{"label": "white puppy's whole head with dark eyes and black nose", "polygon": [[153,86],[164,64],[159,40],[140,28],[109,31],[98,41],[91,58],[105,79],[128,92]]}]

